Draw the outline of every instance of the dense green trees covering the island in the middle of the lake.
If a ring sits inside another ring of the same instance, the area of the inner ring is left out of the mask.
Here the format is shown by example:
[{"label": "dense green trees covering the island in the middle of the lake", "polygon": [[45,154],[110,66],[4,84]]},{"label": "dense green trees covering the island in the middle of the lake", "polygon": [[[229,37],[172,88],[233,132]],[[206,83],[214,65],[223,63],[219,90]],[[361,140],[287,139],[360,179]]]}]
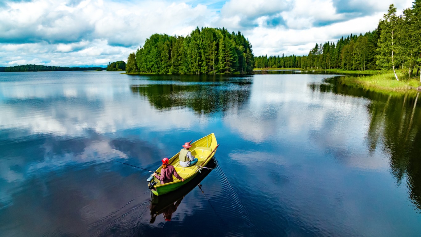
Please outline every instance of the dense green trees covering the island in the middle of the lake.
[{"label": "dense green trees covering the island in the middle of the lake", "polygon": [[127,73],[230,74],[253,71],[250,42],[239,31],[197,27],[187,36],[154,34],[129,55]]}]

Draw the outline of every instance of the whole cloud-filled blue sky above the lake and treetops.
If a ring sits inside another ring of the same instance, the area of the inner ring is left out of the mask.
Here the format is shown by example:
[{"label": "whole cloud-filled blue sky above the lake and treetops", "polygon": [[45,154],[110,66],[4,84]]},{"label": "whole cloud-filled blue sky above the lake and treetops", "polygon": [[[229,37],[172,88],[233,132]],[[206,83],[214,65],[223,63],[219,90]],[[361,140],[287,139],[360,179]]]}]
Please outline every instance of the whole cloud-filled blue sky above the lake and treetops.
[{"label": "whole cloud-filled blue sky above the lake and treetops", "polygon": [[315,43],[374,30],[412,0],[2,0],[0,66],[107,65],[153,33],[240,30],[255,55],[305,55]]}]

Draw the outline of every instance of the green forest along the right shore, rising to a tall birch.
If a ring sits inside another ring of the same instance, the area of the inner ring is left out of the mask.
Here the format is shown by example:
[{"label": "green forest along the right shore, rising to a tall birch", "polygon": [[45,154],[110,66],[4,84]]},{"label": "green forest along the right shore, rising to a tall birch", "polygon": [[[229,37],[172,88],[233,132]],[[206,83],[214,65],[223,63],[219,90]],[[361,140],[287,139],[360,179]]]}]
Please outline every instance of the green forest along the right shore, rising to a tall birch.
[{"label": "green forest along the right shore, rising to a tall birch", "polygon": [[[294,61],[295,65],[291,63]],[[255,67],[399,69],[405,71],[408,77],[421,76],[421,0],[415,0],[412,7],[405,9],[401,15],[397,15],[393,4],[390,5],[377,29],[372,32],[342,37],[336,43],[316,43],[303,57],[260,56],[255,59]]]}]

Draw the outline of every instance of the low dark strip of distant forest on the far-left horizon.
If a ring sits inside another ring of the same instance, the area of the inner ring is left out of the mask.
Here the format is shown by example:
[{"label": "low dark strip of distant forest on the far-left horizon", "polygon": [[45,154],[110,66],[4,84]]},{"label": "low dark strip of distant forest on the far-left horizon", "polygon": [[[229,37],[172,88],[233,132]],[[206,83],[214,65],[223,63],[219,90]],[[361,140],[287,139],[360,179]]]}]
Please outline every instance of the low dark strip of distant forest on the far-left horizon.
[{"label": "low dark strip of distant forest on the far-left horizon", "polygon": [[0,72],[51,72],[51,71],[94,71],[104,70],[104,67],[57,67],[44,65],[19,65],[13,67],[0,67]]}]

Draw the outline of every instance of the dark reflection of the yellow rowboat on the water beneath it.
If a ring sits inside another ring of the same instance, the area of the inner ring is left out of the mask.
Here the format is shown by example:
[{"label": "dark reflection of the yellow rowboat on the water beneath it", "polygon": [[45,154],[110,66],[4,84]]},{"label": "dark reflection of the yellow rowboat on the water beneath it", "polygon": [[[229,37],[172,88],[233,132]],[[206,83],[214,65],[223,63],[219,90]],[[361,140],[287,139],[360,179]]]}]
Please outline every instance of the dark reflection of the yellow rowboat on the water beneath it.
[{"label": "dark reflection of the yellow rowboat on the water beneath it", "polygon": [[[214,159],[215,157],[205,167],[214,169],[216,167]],[[210,169],[203,169],[195,178],[175,191],[160,196],[152,194],[150,223],[154,223],[155,218],[161,213],[164,215],[165,221],[171,221],[173,213],[177,210],[183,198],[196,186],[199,186],[199,189],[202,190],[200,182],[212,171]]]}]

